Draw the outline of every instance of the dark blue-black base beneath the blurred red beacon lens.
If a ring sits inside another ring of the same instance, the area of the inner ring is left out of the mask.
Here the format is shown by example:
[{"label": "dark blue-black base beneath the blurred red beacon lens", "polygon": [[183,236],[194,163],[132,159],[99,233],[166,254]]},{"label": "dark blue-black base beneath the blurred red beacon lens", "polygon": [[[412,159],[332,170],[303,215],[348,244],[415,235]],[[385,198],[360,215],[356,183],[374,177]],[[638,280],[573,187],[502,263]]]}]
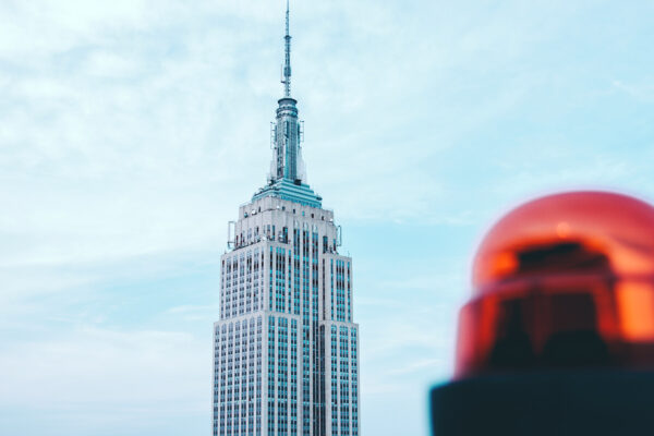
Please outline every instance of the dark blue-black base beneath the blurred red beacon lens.
[{"label": "dark blue-black base beneath the blurred red beacon lens", "polygon": [[432,389],[434,436],[654,434],[654,372],[483,376]]}]

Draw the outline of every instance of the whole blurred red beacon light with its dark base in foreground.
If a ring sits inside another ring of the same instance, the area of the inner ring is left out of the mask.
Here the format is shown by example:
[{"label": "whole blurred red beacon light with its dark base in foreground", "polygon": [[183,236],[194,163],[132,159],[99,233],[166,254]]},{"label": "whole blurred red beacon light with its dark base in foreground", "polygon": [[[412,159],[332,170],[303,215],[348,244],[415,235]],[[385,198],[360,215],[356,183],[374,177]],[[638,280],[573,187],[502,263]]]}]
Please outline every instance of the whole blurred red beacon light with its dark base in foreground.
[{"label": "whole blurred red beacon light with its dark base in foreground", "polygon": [[654,208],[571,192],[485,237],[434,435],[654,434]]}]

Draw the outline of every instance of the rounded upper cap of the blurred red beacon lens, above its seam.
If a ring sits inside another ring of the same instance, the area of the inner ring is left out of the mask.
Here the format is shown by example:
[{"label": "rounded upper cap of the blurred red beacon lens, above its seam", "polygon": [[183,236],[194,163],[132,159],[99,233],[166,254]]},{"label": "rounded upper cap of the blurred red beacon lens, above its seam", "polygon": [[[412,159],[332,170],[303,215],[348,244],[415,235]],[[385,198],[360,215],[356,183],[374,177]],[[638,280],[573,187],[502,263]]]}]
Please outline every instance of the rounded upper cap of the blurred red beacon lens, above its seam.
[{"label": "rounded upper cap of the blurred red beacon lens, above its seam", "polygon": [[[566,246],[577,256],[561,258],[558,252]],[[567,274],[589,263],[600,268],[598,258],[595,264],[582,252],[604,256],[605,272],[654,274],[654,207],[606,192],[570,192],[529,202],[500,219],[482,242],[473,286],[484,292],[486,286],[516,276]]]}]

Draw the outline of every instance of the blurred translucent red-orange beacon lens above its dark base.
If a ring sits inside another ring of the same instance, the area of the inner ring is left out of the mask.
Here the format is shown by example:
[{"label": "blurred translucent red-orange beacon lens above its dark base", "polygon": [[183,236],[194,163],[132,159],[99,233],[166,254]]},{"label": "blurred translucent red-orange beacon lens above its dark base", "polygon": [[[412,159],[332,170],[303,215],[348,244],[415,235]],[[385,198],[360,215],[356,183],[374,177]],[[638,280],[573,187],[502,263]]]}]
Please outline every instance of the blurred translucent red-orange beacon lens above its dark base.
[{"label": "blurred translucent red-orange beacon lens above its dark base", "polygon": [[526,203],[485,237],[461,310],[456,378],[654,370],[654,207],[607,192]]}]

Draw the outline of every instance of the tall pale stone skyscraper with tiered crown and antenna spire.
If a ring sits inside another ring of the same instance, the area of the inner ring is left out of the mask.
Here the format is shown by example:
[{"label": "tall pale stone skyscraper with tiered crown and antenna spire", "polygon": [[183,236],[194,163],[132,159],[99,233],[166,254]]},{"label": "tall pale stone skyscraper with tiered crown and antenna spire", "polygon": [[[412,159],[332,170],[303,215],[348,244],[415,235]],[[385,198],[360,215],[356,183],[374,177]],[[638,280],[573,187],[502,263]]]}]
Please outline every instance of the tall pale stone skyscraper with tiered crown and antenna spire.
[{"label": "tall pale stone skyscraper with tiered crown and antenna spire", "polygon": [[228,225],[214,325],[214,435],[359,436],[352,259],[334,211],[307,184],[291,97],[287,0],[283,97],[267,184]]}]

